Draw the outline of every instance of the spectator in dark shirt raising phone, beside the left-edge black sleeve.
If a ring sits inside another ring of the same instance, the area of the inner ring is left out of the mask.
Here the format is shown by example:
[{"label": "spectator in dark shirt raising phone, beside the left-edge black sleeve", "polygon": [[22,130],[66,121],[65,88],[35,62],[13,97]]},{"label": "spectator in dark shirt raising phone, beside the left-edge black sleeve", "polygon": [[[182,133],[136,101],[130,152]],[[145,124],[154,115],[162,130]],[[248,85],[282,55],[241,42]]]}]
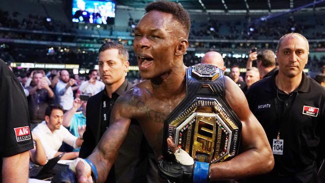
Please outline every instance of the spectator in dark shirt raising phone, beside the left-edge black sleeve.
[{"label": "spectator in dark shirt raising phone, beside the left-edge black sleeve", "polygon": [[42,70],[32,71],[32,83],[26,87],[29,91],[27,101],[31,129],[44,120],[45,108],[54,97],[54,93],[48,85],[47,78],[43,76],[43,72]]}]

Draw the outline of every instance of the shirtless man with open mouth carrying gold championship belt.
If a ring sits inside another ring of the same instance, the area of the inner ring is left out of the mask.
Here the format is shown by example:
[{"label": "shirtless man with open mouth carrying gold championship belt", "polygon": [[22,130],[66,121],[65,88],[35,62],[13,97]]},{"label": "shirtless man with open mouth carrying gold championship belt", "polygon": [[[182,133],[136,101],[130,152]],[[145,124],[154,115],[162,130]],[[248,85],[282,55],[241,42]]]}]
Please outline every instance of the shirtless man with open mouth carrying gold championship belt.
[{"label": "shirtless man with open mouth carrying gold championship belt", "polygon": [[[179,4],[170,1],[152,2],[145,10],[135,27],[133,49],[140,75],[147,80],[116,100],[109,127],[86,159],[92,172],[84,160],[76,162],[79,182],[91,182],[96,174],[96,182],[106,179],[132,118],[139,121],[156,158],[162,157],[162,142],[166,140],[163,121],[185,97],[183,54],[188,46],[190,19]],[[273,167],[273,157],[265,132],[240,88],[229,77],[225,77],[225,85],[225,100],[242,122],[242,150],[229,161],[210,164],[210,180],[266,173]],[[170,140],[168,144],[174,149],[175,144]]]}]

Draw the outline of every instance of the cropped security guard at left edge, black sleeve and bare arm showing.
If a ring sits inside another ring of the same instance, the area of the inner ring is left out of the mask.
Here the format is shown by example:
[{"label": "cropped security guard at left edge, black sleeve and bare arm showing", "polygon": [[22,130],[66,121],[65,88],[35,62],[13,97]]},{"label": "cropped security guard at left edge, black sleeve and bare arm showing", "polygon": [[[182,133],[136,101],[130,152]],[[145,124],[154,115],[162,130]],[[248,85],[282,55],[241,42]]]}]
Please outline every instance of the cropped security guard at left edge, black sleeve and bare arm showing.
[{"label": "cropped security guard at left edge, black sleeve and bare arm showing", "polygon": [[22,85],[1,59],[0,108],[0,182],[27,182],[28,150],[33,148],[27,99]]}]

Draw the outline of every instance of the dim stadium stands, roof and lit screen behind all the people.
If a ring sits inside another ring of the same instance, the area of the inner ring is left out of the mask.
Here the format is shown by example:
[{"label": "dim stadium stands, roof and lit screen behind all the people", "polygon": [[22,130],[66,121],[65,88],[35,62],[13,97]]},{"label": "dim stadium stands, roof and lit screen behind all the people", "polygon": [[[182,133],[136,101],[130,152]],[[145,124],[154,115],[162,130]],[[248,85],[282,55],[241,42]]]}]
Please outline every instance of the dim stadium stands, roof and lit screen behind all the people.
[{"label": "dim stadium stands, roof and lit screen behind all the people", "polygon": [[[67,69],[87,75],[97,69],[104,40],[122,43],[129,51],[128,79],[139,78],[132,50],[133,29],[152,0],[1,0],[0,58],[17,76],[33,69],[49,73]],[[325,64],[324,0],[172,0],[190,14],[185,65],[207,51],[222,54],[226,72],[239,65],[245,72],[249,50],[275,51],[285,33],[298,32],[309,41],[305,72],[313,77]]]}]

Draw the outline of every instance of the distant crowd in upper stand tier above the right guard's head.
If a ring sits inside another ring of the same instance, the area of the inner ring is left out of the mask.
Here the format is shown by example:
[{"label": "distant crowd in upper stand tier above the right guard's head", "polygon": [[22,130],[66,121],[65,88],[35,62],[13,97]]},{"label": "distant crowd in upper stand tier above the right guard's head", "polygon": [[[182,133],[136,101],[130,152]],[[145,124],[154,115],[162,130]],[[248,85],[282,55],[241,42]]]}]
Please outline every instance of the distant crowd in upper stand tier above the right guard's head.
[{"label": "distant crowd in upper stand tier above the right guard's head", "polygon": [[[273,19],[260,21],[258,17],[245,16],[241,20],[210,19],[208,21],[192,21],[189,37],[212,39],[278,39],[289,32],[306,35],[308,39],[325,38],[324,22],[321,14],[309,16],[283,15]],[[257,21],[254,20],[257,18]],[[250,22],[250,23],[248,23]],[[222,31],[226,30],[226,31]],[[318,30],[316,32],[310,30]]]}]

